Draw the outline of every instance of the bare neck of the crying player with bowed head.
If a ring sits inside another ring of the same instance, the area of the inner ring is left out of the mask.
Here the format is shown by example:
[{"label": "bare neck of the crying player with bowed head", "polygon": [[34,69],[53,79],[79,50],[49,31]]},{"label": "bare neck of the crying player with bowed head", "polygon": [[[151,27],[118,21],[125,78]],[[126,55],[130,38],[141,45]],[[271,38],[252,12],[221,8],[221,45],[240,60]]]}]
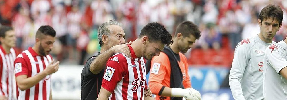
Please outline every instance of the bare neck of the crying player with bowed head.
[{"label": "bare neck of the crying player with bowed head", "polygon": [[139,41],[139,39],[136,39],[135,41],[131,43],[131,48],[133,48],[133,51],[135,52],[135,56],[142,57],[143,47],[141,47],[142,45],[139,45],[139,44],[141,44],[141,41]]}]

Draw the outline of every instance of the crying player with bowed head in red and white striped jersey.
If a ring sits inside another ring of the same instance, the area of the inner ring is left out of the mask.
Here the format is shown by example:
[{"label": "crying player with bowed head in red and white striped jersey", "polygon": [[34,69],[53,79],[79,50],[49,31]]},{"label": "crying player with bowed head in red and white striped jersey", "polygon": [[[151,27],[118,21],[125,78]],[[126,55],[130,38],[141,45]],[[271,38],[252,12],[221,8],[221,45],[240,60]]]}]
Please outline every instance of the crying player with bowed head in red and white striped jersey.
[{"label": "crying player with bowed head in red and white striped jersey", "polygon": [[108,59],[97,100],[153,100],[143,92],[147,89],[144,58],[158,56],[164,45],[172,42],[171,35],[160,23],[144,26],[139,37],[128,45],[131,58],[116,53]]}]

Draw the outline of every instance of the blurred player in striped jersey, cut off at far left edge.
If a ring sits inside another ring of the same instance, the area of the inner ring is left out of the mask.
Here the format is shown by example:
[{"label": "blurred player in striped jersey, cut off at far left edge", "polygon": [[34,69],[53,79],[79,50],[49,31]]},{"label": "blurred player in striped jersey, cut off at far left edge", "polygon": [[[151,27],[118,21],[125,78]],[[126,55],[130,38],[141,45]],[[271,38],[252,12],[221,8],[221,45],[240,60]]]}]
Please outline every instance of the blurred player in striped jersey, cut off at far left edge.
[{"label": "blurred player in striped jersey, cut off at far left edge", "polygon": [[16,99],[14,60],[16,36],[12,27],[0,26],[0,100]]}]

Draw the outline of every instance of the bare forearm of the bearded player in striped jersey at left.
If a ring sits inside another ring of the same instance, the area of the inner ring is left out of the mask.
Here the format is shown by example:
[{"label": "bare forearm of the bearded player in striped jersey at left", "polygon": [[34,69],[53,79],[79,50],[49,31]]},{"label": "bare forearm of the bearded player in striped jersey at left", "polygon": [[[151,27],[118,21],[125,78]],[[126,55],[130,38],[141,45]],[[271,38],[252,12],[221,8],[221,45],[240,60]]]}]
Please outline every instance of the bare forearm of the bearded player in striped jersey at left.
[{"label": "bare forearm of the bearded player in striped jersey at left", "polygon": [[[34,85],[38,84],[44,77],[46,77],[48,74],[44,71],[41,73],[38,73],[37,75],[33,77],[23,77],[22,75],[16,77],[16,82],[18,87],[24,91],[26,89],[29,89],[33,87]],[[24,78],[24,79],[23,79]]]}]

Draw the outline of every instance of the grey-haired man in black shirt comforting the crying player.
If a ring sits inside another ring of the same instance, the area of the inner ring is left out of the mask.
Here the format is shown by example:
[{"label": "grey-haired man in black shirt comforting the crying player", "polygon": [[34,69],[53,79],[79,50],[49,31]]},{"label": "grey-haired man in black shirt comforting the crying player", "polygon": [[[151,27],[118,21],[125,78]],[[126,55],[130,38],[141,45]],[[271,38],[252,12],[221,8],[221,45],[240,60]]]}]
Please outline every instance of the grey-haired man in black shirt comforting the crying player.
[{"label": "grey-haired man in black shirt comforting the crying player", "polygon": [[[102,86],[102,79],[106,68],[106,62],[113,54],[121,52],[131,57],[129,47],[131,42],[125,43],[123,25],[110,20],[99,26],[98,40],[101,51],[88,59],[81,73],[81,100],[94,100],[98,98]],[[145,90],[145,96],[151,95],[149,89]]]}]

